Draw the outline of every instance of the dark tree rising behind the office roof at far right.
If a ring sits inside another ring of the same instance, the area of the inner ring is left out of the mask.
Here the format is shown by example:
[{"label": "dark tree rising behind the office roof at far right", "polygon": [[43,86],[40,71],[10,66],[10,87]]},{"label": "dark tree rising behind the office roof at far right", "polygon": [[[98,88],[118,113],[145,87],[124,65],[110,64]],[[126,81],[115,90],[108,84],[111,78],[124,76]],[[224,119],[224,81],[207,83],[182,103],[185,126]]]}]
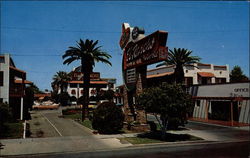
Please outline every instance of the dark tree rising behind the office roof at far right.
[{"label": "dark tree rising behind the office roof at far right", "polygon": [[232,71],[230,72],[230,82],[240,82],[247,80],[248,78],[246,75],[243,74],[241,67],[238,65],[234,66]]}]

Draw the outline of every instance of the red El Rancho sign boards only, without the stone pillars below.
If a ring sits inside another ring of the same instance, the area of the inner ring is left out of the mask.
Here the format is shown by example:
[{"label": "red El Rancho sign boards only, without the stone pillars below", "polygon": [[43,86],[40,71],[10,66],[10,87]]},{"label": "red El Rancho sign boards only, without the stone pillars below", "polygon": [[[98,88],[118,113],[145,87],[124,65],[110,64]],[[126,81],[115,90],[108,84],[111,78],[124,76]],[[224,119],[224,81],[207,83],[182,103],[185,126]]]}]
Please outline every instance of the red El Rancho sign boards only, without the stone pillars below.
[{"label": "red El Rancho sign boards only, without the stone pillars below", "polygon": [[168,33],[156,31],[145,36],[144,30],[130,27],[128,23],[122,25],[120,47],[123,49],[123,79],[128,91],[135,88],[137,81],[136,68],[146,67],[167,59],[168,48],[165,46]]}]

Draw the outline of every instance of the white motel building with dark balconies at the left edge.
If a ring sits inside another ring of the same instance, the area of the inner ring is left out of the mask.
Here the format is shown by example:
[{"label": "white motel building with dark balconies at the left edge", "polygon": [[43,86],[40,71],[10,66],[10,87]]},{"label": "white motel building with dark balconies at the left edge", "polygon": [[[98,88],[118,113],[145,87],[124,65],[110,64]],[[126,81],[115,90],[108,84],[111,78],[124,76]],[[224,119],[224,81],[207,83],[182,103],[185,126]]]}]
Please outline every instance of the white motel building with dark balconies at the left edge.
[{"label": "white motel building with dark balconies at the left edge", "polygon": [[[9,54],[0,54],[0,103],[8,103],[16,119],[23,120],[25,88],[32,82],[26,80],[26,72],[16,68]],[[24,111],[24,109],[26,109]]]}]

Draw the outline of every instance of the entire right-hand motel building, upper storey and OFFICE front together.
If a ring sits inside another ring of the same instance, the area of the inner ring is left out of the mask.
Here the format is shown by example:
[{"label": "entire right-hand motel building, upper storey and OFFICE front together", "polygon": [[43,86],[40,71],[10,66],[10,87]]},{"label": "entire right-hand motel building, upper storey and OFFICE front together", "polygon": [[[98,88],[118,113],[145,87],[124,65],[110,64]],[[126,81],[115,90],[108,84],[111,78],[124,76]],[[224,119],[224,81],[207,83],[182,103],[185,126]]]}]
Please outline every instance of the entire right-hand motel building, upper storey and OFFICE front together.
[{"label": "entire right-hand motel building, upper storey and OFFICE front together", "polygon": [[[171,82],[175,66],[147,70],[147,86]],[[195,106],[191,120],[226,126],[250,125],[250,81],[229,82],[229,66],[196,63],[184,67],[184,85]],[[115,100],[123,104],[124,85],[116,89]]]}]

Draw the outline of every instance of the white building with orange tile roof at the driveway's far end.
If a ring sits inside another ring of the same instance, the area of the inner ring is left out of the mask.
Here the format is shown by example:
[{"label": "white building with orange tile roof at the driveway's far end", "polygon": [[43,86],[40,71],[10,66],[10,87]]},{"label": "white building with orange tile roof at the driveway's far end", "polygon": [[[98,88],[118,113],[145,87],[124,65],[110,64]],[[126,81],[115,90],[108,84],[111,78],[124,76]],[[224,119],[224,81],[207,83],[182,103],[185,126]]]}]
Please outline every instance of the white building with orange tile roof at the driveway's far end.
[{"label": "white building with orange tile roof at the driveway's far end", "polygon": [[[73,100],[79,99],[83,96],[83,73],[81,68],[74,68],[71,72],[71,80],[67,82],[64,92],[68,92],[69,96],[74,98]],[[116,79],[115,78],[101,78],[100,72],[93,72],[90,74],[90,88],[89,96],[90,100],[95,97],[100,91],[115,90]],[[59,92],[60,93],[60,89]]]}]

